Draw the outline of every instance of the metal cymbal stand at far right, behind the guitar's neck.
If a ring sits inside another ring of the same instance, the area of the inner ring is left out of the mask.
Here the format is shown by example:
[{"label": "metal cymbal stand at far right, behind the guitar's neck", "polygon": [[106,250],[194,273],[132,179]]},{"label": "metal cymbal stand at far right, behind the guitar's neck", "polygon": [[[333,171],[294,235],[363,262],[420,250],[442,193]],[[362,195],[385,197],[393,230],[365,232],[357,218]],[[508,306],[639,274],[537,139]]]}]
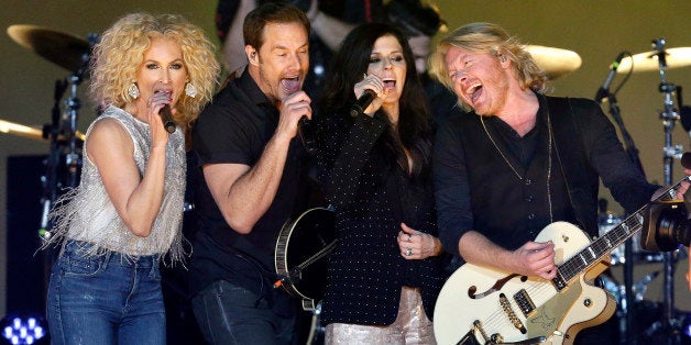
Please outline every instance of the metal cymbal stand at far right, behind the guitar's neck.
[{"label": "metal cymbal stand at far right, behind the guitar's neck", "polygon": [[[672,130],[674,129],[674,121],[679,120],[679,113],[674,110],[674,102],[672,99],[672,92],[677,90],[677,87],[672,84],[668,84],[666,79],[665,69],[667,68],[666,53],[665,53],[665,38],[654,40],[652,47],[656,51],[660,68],[660,87],[659,91],[665,94],[665,110],[660,112],[660,119],[662,120],[665,127],[665,148],[663,148],[663,169],[665,169],[665,185],[672,185],[672,162],[673,158],[681,157],[681,145],[672,146]],[[652,56],[651,56],[652,57]],[[661,320],[656,321],[645,331],[646,335],[654,335],[660,333],[666,340],[666,344],[680,344],[681,323],[674,319],[674,257],[672,252],[663,253],[663,300],[662,300],[662,316]]]}]

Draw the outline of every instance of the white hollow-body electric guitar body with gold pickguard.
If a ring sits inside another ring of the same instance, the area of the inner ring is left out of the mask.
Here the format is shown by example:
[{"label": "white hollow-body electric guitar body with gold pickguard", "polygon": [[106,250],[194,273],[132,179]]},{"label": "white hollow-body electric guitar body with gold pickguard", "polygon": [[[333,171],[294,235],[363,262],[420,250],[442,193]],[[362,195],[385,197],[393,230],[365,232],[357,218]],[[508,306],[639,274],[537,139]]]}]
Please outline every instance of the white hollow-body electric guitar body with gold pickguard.
[{"label": "white hollow-body electric guitar body with gold pickguard", "polygon": [[[585,233],[567,222],[550,224],[535,241],[550,240],[557,266],[590,245]],[[591,285],[607,263],[605,257],[589,266],[560,291],[552,281],[465,264],[451,275],[437,300],[437,343],[571,344],[580,330],[614,313],[614,298]]]}]

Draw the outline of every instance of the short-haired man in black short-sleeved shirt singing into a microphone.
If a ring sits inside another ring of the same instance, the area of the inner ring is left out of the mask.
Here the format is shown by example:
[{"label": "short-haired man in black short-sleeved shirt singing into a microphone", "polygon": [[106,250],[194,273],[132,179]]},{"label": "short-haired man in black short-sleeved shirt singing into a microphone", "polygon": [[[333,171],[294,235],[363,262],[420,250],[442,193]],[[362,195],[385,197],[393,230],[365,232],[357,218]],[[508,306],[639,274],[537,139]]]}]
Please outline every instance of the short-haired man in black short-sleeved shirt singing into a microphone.
[{"label": "short-haired man in black short-sleeved shirt singing into a microphone", "polygon": [[287,3],[244,20],[249,65],[199,116],[190,281],[195,316],[211,344],[288,344],[298,305],[276,279],[274,247],[300,198],[305,148],[298,121],[311,118],[301,91],[309,21]]}]

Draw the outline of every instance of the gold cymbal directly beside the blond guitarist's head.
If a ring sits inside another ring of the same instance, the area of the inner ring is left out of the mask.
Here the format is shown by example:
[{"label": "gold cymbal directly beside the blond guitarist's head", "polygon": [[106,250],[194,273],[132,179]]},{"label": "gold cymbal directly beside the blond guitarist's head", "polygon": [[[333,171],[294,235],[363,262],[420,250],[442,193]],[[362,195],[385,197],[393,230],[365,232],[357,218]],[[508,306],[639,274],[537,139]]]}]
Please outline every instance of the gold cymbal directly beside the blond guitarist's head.
[{"label": "gold cymbal directly beside the blond guitarist's head", "polygon": [[523,47],[530,53],[537,66],[545,71],[550,80],[581,67],[581,57],[575,52],[541,45],[524,45]]}]

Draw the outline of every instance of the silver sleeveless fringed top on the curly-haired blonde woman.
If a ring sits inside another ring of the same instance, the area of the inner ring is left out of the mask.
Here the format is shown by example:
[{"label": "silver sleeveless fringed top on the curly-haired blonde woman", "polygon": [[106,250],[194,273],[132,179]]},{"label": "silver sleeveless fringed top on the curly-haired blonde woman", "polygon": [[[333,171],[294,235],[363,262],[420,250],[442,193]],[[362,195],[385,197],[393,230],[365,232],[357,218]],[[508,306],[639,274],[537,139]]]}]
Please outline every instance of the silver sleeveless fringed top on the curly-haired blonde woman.
[{"label": "silver sleeveless fringed top on the curly-haired blonde woman", "polygon": [[[165,187],[163,203],[154,221],[151,234],[140,237],[124,225],[110,201],[98,167],[86,153],[86,142],[94,124],[103,119],[116,119],[129,132],[134,143],[134,160],[142,176],[151,151],[149,124],[136,120],[124,110],[110,105],[91,123],[84,143],[84,166],[77,188],[61,197],[50,216],[53,237],[45,246],[69,238],[89,244],[86,255],[105,255],[109,251],[133,258],[140,255],[163,255],[169,251],[169,259],[182,260],[183,207],[185,198],[185,137],[178,127],[171,134],[166,147]],[[63,241],[63,246],[66,241]]]}]

